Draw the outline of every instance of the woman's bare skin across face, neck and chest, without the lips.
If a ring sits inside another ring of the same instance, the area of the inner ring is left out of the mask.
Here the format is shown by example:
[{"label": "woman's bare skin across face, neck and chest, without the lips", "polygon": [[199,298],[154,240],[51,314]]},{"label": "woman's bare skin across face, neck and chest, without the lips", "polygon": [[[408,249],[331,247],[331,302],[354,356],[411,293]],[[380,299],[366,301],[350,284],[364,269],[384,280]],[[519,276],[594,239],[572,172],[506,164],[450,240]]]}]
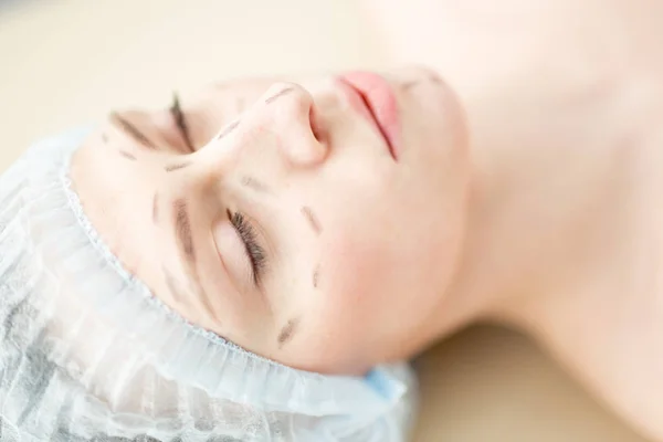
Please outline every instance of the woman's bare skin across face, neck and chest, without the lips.
[{"label": "woman's bare skin across face, neck and chest, without the lips", "polygon": [[333,75],[230,82],[182,98],[189,143],[167,112],[119,113],[152,148],[117,118],[86,141],[102,236],[171,308],[283,364],[360,373],[497,320],[663,440],[661,6],[366,6],[394,62],[432,66],[386,73],[399,161]]}]

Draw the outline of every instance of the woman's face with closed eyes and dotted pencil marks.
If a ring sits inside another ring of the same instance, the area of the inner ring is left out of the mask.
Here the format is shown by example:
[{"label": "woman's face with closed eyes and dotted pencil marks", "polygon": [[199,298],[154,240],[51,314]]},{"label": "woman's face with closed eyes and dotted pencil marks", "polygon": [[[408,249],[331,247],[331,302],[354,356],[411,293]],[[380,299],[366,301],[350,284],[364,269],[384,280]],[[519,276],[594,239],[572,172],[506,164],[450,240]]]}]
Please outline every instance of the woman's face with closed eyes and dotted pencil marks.
[{"label": "woman's face with closed eyes and dotted pencil marks", "polygon": [[467,193],[443,82],[422,69],[248,80],[180,105],[113,114],[74,158],[124,265],[189,322],[292,367],[359,373],[419,350]]}]

